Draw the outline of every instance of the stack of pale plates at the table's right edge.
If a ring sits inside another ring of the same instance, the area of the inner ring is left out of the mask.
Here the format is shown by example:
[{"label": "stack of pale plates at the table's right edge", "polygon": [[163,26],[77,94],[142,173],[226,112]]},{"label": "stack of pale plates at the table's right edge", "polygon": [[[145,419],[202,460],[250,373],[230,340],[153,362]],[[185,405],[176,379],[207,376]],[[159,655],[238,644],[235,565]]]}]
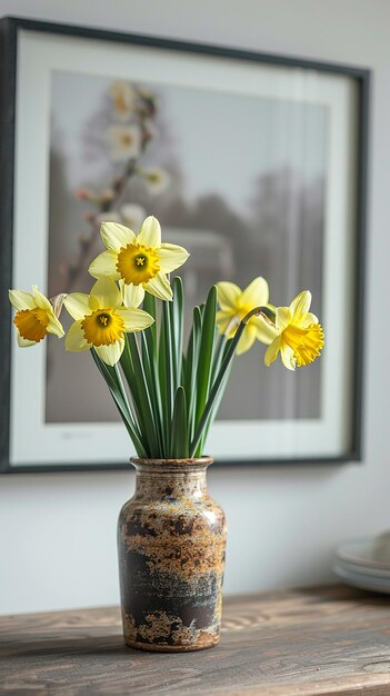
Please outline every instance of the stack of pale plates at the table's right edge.
[{"label": "stack of pale plates at the table's right edge", "polygon": [[389,533],[338,548],[333,571],[354,587],[390,594]]}]

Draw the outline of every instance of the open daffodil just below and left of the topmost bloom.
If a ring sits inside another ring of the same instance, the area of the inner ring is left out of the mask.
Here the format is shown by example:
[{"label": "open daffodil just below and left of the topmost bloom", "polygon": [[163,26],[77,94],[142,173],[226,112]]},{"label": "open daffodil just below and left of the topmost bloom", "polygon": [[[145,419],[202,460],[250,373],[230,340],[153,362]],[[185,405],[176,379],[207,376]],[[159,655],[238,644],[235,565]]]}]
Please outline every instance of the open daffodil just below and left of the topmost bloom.
[{"label": "open daffodil just below and left of the topmost bloom", "polygon": [[122,307],[121,292],[109,278],[98,280],[90,295],[71,292],[63,302],[76,319],[67,334],[67,350],[93,348],[111,366],[123,352],[123,334],[141,331],[154,321],[142,309]]}]

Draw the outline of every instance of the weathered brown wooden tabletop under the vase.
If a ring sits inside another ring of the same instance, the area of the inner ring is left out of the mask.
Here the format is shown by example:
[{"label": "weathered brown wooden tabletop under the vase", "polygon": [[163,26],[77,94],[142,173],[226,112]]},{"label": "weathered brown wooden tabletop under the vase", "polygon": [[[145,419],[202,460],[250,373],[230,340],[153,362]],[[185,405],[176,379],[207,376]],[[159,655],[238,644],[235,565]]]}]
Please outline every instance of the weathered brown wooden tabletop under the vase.
[{"label": "weathered brown wooden tabletop under the vase", "polygon": [[122,644],[119,609],[0,617],[0,694],[390,695],[390,597],[330,586],[224,600],[218,647]]}]

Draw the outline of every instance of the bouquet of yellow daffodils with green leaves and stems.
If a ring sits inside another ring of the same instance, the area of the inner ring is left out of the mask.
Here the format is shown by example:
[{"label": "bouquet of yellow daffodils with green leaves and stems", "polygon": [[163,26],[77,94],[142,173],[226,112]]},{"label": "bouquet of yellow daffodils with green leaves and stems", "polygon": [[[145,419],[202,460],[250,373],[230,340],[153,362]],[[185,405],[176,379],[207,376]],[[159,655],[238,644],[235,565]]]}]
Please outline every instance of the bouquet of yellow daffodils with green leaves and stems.
[{"label": "bouquet of yellow daffodils with green leaves and stems", "polygon": [[183,288],[179,277],[171,285],[169,275],[187,261],[187,250],[161,241],[154,217],[138,235],[104,222],[101,238],[106,250],[89,267],[97,279],[89,295],[49,300],[36,286],[31,294],[10,290],[13,324],[21,347],[48,334],[61,338],[66,307],[74,319],[66,349],[91,351],[139,457],[202,456],[233,358],[257,339],[268,346],[266,365],[280,354],[294,370],[320,355],[323,330],[309,311],[310,292],[277,308],[262,277],[243,291],[228,281],[213,286],[204,305],[193,309],[183,349]]}]

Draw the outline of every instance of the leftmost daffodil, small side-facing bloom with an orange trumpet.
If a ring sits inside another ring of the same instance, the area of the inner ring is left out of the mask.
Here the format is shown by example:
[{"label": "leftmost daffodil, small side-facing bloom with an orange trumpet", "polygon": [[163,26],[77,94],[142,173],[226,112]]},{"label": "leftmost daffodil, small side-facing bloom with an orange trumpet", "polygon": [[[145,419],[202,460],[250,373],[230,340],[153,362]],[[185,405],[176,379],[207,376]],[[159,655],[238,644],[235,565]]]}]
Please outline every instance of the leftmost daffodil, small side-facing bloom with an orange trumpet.
[{"label": "leftmost daffodil, small side-facing bloom with an orange trumpet", "polygon": [[[39,344],[48,334],[59,338],[63,336],[63,328],[51,305],[37,286],[32,286],[32,294],[23,290],[10,290],[10,302],[18,310],[13,324],[18,329],[18,344],[22,348]],[[60,307],[60,304],[57,304]],[[60,311],[60,309],[59,309]]]}]

